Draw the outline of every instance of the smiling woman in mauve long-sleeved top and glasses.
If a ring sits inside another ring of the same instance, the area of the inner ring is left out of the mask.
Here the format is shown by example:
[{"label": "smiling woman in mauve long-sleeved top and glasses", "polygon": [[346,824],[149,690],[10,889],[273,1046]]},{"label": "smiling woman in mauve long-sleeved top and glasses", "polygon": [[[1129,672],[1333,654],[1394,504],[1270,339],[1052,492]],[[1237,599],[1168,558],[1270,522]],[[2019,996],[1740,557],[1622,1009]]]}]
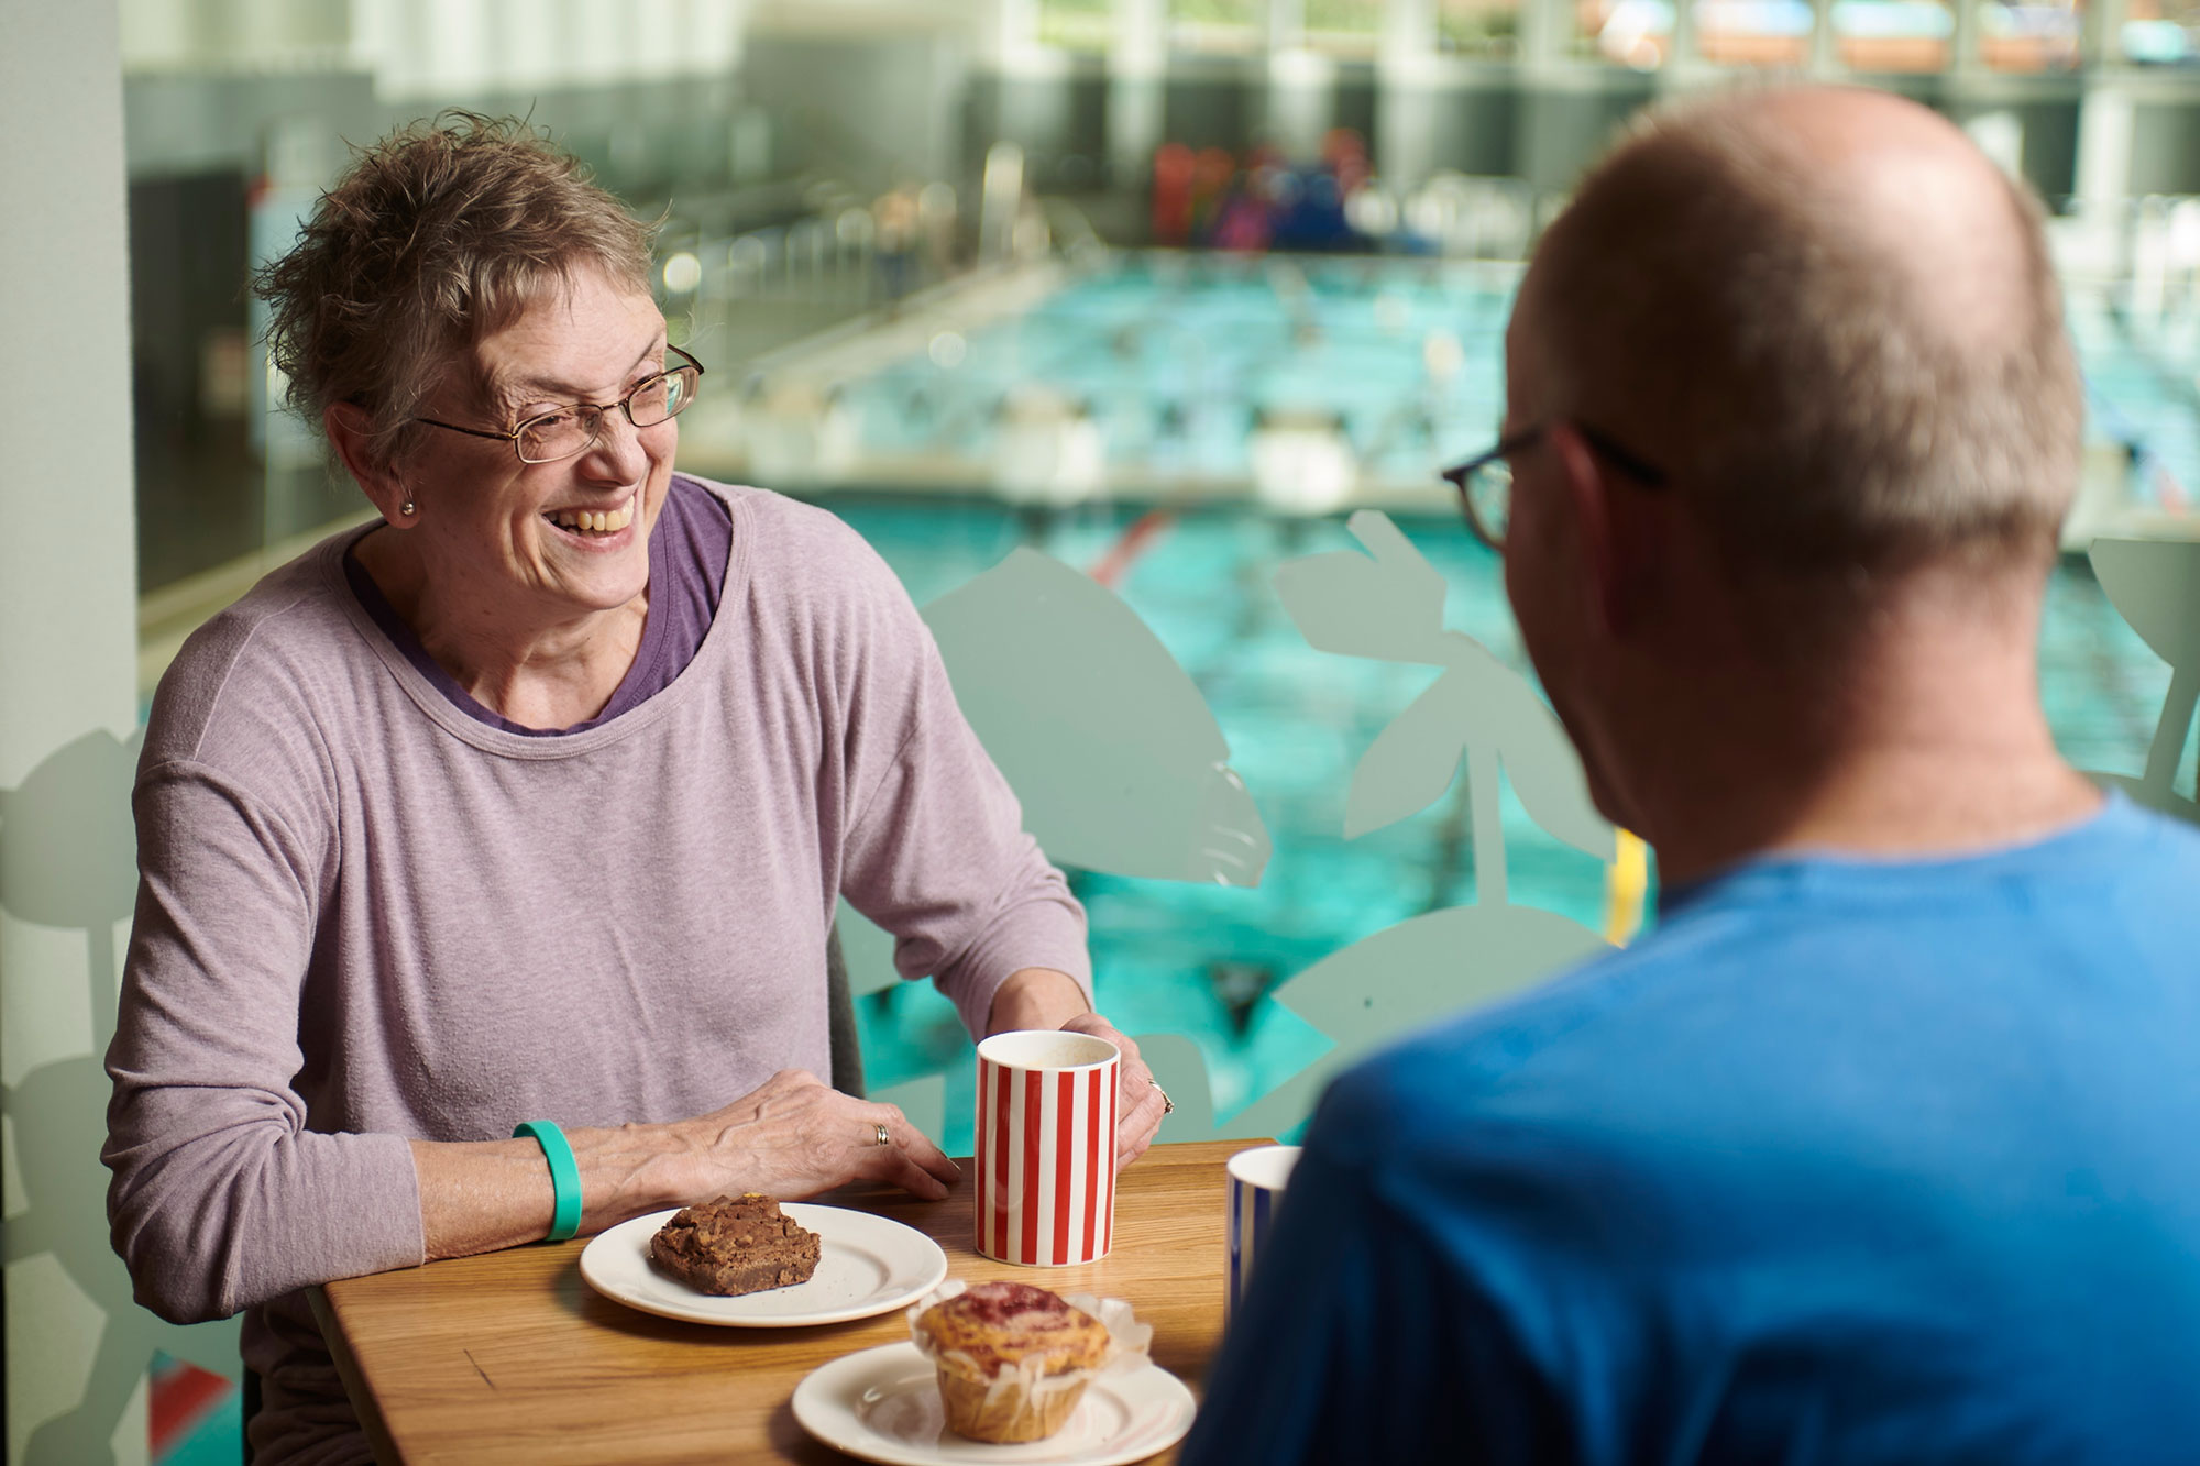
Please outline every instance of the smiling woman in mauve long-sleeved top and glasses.
[{"label": "smiling woman in mauve long-sleeved top and glasses", "polygon": [[306,1286],[719,1193],[944,1195],[812,1076],[840,896],[975,1037],[1118,1043],[1144,1151],[1166,1098],[900,583],[675,473],[704,368],[618,200],[460,114],[361,152],[260,291],[381,519],[161,682],[106,1149],[139,1299],[246,1314],[253,1459],[367,1459]]}]

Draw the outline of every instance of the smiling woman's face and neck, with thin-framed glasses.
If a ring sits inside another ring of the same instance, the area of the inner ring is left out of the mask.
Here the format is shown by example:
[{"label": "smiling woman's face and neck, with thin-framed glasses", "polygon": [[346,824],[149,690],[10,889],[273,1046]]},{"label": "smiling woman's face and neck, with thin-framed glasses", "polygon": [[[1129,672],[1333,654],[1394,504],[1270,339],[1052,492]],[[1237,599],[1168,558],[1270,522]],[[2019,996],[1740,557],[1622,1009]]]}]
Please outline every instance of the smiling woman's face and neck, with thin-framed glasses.
[{"label": "smiling woman's face and neck, with thin-framed glasses", "polygon": [[[354,557],[471,698],[526,726],[579,726],[612,702],[649,614],[649,537],[680,442],[664,317],[647,291],[583,266],[466,357],[422,403],[438,416],[414,416],[453,431],[400,456],[376,453],[363,407],[326,409],[330,442],[398,530]],[[449,420],[469,414],[515,427]]]}]

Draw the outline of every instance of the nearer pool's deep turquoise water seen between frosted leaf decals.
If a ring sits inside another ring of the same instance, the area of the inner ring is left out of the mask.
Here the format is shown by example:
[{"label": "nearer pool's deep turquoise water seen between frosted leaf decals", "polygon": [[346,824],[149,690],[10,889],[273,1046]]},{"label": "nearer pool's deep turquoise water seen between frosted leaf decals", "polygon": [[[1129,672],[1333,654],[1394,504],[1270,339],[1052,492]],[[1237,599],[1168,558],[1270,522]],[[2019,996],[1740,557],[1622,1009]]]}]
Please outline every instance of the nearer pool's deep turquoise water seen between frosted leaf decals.
[{"label": "nearer pool's deep turquoise water seen between frosted leaf decals", "polygon": [[[1137,506],[1089,504],[1038,522],[975,497],[829,497],[900,572],[920,603],[1034,544],[1089,568]],[[1443,575],[1445,621],[1529,671],[1505,605],[1496,557],[1456,517],[1401,517]],[[1102,1010],[1126,1032],[1190,1037],[1225,1118],[1329,1048],[1267,997],[1320,958],[1410,916],[1474,900],[1465,781],[1412,819],[1346,841],[1344,790],[1368,742],[1434,669],[1316,652],[1274,590],[1287,559],[1357,548],[1342,519],[1274,519],[1252,506],[1179,513],[1148,541],[1118,592],[1208,700],[1274,841],[1252,889],[1071,872],[1091,916]],[[2048,590],[2039,649],[2048,722],[2081,768],[2138,773],[2169,687],[2163,665],[2123,623],[2083,561]],[[2191,759],[2180,788],[2191,790]],[[1505,795],[1511,898],[1604,927],[1604,865],[1536,828]],[[946,1072],[950,1153],[970,1147],[970,1059],[953,1010],[931,988],[898,984],[865,999],[873,1087]]]}]

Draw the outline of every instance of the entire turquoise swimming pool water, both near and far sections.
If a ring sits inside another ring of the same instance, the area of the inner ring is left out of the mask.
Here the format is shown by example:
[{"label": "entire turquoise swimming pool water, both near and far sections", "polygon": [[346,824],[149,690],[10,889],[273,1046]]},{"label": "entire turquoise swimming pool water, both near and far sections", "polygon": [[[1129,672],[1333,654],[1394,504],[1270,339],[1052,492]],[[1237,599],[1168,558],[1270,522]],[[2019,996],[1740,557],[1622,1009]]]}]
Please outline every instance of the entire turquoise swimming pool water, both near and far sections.
[{"label": "entire turquoise swimming pool water, both near and far sections", "polygon": [[[1102,1008],[1126,1032],[1190,1039],[1219,1118],[1331,1046],[1269,997],[1278,982],[1476,898],[1465,779],[1421,814],[1342,834],[1355,762],[1437,671],[1307,645],[1276,597],[1276,568],[1355,544],[1342,515],[1261,506],[1247,486],[1254,431],[1331,414],[1360,491],[1388,502],[1443,575],[1445,623],[1527,674],[1496,557],[1430,491],[1434,469],[1485,447],[1500,414],[1514,280],[1516,269],[1487,264],[1118,255],[1008,315],[979,313],[970,326],[948,315],[915,337],[904,328],[900,354],[838,383],[860,442],[854,482],[887,489],[902,482],[898,464],[922,462],[937,484],[942,462],[966,464],[968,493],[821,500],[878,546],[917,603],[1021,544],[1091,568],[1140,524],[1144,550],[1118,592],[1212,709],[1274,854],[1252,889],[1087,872],[1071,883],[1091,916]],[[2094,431],[2147,467],[2132,475],[2138,493],[2174,502],[2200,484],[2200,412],[2187,390],[2196,363],[2132,341],[2105,297],[2075,295],[2070,317]],[[1005,405],[1034,387],[1096,429],[1104,473],[1082,502],[1016,508],[988,489]],[[1155,500],[1170,508],[1155,515]],[[2039,665],[2066,755],[2136,773],[2169,669],[2079,559],[2050,583]],[[2191,757],[2180,788],[2191,790]],[[1509,790],[1503,803],[1511,898],[1599,929],[1604,865],[1536,828]],[[970,1059],[948,1006],[902,984],[865,999],[862,1024],[873,1090],[944,1074],[942,1138],[966,1149]]]}]

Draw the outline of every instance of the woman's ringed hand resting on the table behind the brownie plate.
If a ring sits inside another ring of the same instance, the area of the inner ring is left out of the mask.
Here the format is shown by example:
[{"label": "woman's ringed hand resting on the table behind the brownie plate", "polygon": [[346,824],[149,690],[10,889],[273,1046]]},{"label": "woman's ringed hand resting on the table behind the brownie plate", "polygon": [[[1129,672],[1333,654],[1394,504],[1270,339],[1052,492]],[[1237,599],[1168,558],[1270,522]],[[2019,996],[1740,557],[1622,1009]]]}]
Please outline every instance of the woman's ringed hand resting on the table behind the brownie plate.
[{"label": "woman's ringed hand resting on the table behind the brownie plate", "polygon": [[724,1109],[669,1129],[697,1202],[741,1191],[794,1202],[858,1180],[937,1202],[961,1175],[895,1105],[840,1094],[803,1070],[781,1070]]}]

